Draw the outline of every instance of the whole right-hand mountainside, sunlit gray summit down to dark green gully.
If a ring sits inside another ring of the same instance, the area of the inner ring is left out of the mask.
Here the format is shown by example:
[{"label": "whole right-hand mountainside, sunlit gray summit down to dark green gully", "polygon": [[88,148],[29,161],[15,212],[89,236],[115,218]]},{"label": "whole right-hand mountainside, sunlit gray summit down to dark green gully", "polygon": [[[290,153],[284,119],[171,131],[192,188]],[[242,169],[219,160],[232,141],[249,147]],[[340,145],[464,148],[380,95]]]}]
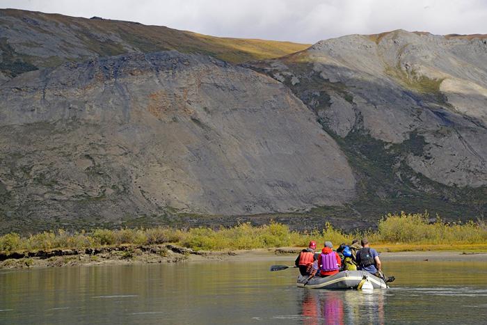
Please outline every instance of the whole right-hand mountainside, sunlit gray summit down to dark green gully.
[{"label": "whole right-hand mountainside, sunlit gray summit down to dark green gully", "polygon": [[484,35],[350,35],[252,66],[289,86],[346,152],[360,193],[350,213],[486,211]]}]

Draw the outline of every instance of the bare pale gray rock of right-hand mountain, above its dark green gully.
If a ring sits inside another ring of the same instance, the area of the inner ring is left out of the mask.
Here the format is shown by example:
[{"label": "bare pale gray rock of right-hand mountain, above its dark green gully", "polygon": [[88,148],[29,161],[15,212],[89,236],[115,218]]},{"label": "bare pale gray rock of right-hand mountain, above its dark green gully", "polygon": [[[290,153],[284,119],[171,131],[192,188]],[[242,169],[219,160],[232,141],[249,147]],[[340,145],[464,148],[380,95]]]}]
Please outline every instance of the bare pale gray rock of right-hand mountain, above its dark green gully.
[{"label": "bare pale gray rock of right-hand mountain, above its dark green gully", "polygon": [[350,35],[255,67],[285,76],[338,136],[355,128],[399,144],[417,132],[426,143],[408,166],[450,186],[487,185],[486,39]]}]

